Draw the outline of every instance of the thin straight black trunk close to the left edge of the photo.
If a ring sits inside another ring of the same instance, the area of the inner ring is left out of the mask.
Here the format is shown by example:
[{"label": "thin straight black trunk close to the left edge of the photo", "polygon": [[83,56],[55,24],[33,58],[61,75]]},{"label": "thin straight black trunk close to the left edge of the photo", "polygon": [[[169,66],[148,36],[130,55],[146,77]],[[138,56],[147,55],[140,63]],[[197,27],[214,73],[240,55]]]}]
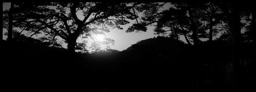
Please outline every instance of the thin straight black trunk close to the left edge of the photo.
[{"label": "thin straight black trunk close to the left edge of the photo", "polygon": [[8,28],[8,41],[12,40],[12,9],[13,9],[14,4],[11,3],[11,8],[9,9],[9,28]]}]

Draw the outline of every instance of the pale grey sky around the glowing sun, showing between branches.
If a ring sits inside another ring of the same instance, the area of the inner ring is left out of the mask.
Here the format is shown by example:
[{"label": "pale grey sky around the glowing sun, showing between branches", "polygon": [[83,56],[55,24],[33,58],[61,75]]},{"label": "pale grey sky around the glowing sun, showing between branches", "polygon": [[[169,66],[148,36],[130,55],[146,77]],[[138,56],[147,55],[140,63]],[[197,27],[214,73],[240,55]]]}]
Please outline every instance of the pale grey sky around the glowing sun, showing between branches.
[{"label": "pale grey sky around the glowing sun, showing between branches", "polygon": [[[171,4],[167,3],[164,5],[164,9],[169,9],[169,7],[171,7]],[[5,9],[9,9],[10,8],[10,3],[3,3],[3,10]],[[79,19],[83,19],[82,13],[76,13]],[[81,16],[81,17],[79,17]],[[132,44],[136,44],[136,42],[141,41],[141,40],[145,40],[145,39],[149,39],[149,38],[153,38],[153,37],[157,37],[158,35],[154,35],[154,27],[153,26],[148,26],[147,27],[147,31],[146,32],[129,32],[126,33],[125,31],[127,30],[127,28],[129,26],[131,26],[133,23],[135,23],[135,20],[130,21],[129,24],[126,25],[121,25],[121,27],[123,27],[124,29],[110,29],[110,32],[105,33],[106,37],[111,38],[113,40],[115,40],[115,44],[114,45],[110,45],[110,49],[116,49],[118,51],[123,51],[125,49],[127,49],[128,47],[130,47]],[[7,29],[3,29],[3,32],[7,32]],[[25,33],[26,31],[24,31],[23,33]],[[3,33],[4,34],[4,33]],[[93,35],[94,37],[98,38],[98,39],[102,39],[103,40],[103,36],[104,35]],[[36,37],[36,36],[34,36]],[[6,39],[7,36],[3,36],[3,39]],[[62,39],[59,38],[59,41],[61,41]],[[82,38],[78,38],[77,42],[81,43],[83,40],[87,40],[87,49],[89,50],[89,52],[91,52],[92,50],[89,48],[91,46],[91,42],[93,42],[92,39],[82,39]],[[184,41],[185,43],[187,43],[185,41],[184,36],[180,37],[180,40]],[[67,44],[63,44],[63,48],[67,48]],[[106,45],[102,45],[101,49],[105,49]]]}]

